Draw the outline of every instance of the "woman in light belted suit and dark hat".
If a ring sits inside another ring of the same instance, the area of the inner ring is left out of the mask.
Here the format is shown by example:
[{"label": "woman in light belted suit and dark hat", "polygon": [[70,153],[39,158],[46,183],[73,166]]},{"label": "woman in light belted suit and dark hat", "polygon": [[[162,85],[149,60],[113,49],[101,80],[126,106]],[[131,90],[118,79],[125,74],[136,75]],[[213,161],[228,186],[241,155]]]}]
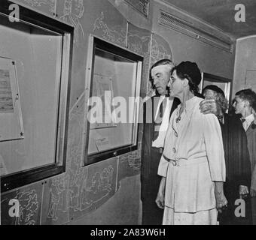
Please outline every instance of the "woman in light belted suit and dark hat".
[{"label": "woman in light belted suit and dark hat", "polygon": [[164,208],[165,225],[215,225],[217,209],[227,205],[221,127],[215,115],[200,113],[200,81],[196,63],[181,62],[172,70],[170,97],[181,104],[170,118],[158,167],[156,202]]}]

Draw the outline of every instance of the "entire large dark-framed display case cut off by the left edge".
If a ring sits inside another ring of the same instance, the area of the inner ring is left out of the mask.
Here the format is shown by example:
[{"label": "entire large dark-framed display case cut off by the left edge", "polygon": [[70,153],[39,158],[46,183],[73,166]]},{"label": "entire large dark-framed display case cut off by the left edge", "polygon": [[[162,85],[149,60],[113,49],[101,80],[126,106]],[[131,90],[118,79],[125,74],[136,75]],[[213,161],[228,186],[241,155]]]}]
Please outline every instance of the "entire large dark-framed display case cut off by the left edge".
[{"label": "entire large dark-framed display case cut off by the left edge", "polygon": [[[20,21],[12,23],[5,10],[0,13],[0,84],[12,85],[8,98],[1,98],[0,87],[0,106],[9,106],[0,121],[14,122],[0,124],[2,132],[8,127],[0,138],[2,191],[65,171],[73,35],[72,27],[25,7]],[[13,68],[6,68],[8,62]]]}]

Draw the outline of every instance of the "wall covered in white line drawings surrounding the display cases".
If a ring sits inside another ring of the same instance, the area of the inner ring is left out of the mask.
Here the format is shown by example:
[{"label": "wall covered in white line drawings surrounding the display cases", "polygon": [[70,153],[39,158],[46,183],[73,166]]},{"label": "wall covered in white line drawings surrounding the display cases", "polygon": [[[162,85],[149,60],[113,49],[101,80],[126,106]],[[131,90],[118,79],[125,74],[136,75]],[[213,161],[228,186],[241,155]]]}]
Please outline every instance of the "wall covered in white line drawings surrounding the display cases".
[{"label": "wall covered in white line drawings surrounding the display cases", "polygon": [[[13,0],[56,17],[75,28],[72,83],[69,110],[69,133],[66,172],[2,194],[2,222],[5,224],[140,224],[140,154],[142,126],[139,127],[139,149],[119,157],[81,166],[83,154],[84,110],[87,50],[90,34],[126,47],[144,57],[141,96],[150,93],[149,68],[161,58],[175,63],[197,62],[201,71],[221,77],[233,77],[234,55],[193,40],[158,25],[160,8],[168,7],[150,1],[145,18],[124,1],[116,0]],[[32,199],[22,205],[22,217],[8,217],[8,200]]]}]

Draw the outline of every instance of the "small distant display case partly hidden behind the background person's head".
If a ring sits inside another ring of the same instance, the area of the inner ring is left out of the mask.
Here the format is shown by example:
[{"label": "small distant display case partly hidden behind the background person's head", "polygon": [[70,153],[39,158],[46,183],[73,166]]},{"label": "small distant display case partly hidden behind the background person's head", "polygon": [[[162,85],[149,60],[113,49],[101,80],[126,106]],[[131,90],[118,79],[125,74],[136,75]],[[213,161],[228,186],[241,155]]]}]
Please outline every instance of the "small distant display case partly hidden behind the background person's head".
[{"label": "small distant display case partly hidden behind the background person's head", "polygon": [[232,96],[231,96],[231,92],[230,92],[232,80],[203,72],[202,73],[202,81],[200,84],[200,93],[202,93],[203,89],[209,85],[218,86],[224,92],[225,97],[227,99],[227,103],[228,103],[228,105],[230,105],[230,103],[232,101],[232,99],[231,99]]}]

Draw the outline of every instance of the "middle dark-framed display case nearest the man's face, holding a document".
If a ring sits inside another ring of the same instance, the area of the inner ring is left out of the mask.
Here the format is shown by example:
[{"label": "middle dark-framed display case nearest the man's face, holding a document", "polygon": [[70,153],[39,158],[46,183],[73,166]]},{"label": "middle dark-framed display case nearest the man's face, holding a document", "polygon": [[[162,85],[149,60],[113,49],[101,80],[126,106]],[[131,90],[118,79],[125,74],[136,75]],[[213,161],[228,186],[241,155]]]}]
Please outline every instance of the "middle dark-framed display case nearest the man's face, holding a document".
[{"label": "middle dark-framed display case nearest the man's face, holding a document", "polygon": [[137,148],[143,58],[90,36],[84,165]]}]

